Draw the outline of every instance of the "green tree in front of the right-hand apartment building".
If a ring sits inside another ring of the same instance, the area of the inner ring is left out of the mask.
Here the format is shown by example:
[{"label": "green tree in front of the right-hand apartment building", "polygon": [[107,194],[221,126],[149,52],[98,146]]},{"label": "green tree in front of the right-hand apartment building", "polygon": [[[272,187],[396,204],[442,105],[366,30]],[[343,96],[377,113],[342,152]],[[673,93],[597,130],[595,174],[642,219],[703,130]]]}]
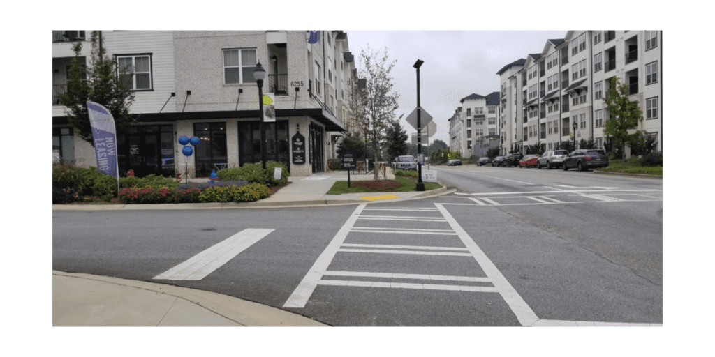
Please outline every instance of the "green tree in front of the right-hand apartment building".
[{"label": "green tree in front of the right-hand apartment building", "polygon": [[639,139],[637,132],[628,134],[628,130],[635,129],[638,122],[643,120],[643,111],[638,102],[628,100],[628,85],[619,84],[618,77],[615,76],[611,78],[606,107],[609,118],[603,125],[603,134],[609,137],[616,150],[623,152],[623,159],[626,159],[626,151],[623,150],[626,144]]}]

